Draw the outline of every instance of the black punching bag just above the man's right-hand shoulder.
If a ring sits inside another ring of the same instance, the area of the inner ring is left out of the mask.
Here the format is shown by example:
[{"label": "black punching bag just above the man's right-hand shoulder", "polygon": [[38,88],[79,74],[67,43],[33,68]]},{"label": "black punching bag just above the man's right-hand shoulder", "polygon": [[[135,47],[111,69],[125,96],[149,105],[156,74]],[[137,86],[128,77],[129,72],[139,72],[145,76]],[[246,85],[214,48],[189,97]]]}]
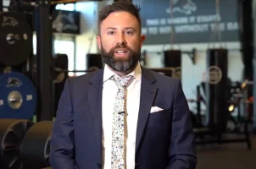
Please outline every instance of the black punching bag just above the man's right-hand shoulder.
[{"label": "black punching bag just above the man's right-hand shoulder", "polygon": [[171,74],[165,75],[181,79],[181,51],[164,51],[164,67],[173,68],[173,72]]}]

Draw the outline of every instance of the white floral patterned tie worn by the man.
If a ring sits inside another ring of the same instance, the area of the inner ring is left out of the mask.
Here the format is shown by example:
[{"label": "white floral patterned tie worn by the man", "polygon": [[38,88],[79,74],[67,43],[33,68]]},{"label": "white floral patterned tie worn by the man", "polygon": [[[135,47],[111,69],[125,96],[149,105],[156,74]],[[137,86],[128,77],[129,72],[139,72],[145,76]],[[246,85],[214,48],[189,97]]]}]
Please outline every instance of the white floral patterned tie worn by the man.
[{"label": "white floral patterned tie worn by the man", "polygon": [[112,123],[111,169],[125,168],[125,89],[131,78],[131,75],[125,78],[115,75],[111,78],[119,88],[115,98]]}]

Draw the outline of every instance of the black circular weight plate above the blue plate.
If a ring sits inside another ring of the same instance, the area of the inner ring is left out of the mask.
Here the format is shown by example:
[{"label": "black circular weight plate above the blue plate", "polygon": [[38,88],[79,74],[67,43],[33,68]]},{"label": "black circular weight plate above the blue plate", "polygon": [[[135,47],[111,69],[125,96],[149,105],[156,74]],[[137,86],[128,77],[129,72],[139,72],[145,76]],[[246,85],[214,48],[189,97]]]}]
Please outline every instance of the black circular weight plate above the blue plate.
[{"label": "black circular weight plate above the blue plate", "polygon": [[22,14],[0,13],[0,63],[17,66],[32,53],[32,30]]}]

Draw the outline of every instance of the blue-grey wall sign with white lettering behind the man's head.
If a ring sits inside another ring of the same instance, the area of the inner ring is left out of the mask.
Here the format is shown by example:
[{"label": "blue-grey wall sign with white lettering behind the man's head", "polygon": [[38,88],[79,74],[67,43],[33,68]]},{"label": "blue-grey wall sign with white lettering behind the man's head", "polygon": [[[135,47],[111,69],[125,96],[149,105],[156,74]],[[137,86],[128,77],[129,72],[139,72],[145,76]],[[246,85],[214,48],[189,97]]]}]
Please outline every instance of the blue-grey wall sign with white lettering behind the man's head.
[{"label": "blue-grey wall sign with white lettering behind the man's head", "polygon": [[[220,15],[215,0],[133,0],[141,6],[145,44],[239,41],[237,0],[221,0]],[[221,34],[216,33],[219,23]],[[214,33],[215,32],[215,33]],[[218,38],[219,37],[219,38]]]}]

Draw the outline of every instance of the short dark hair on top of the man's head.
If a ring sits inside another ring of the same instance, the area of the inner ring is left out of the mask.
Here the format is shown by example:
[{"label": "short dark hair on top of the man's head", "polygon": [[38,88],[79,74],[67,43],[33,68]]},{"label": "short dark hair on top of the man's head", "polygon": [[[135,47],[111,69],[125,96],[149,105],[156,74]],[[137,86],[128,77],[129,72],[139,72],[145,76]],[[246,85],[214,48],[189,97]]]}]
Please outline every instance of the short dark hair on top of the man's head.
[{"label": "short dark hair on top of the man's head", "polygon": [[[114,3],[111,3],[105,7],[102,8],[102,10],[99,11],[98,13],[98,31],[100,32],[100,25],[103,22],[104,19],[106,19],[109,14],[118,12],[118,11],[123,11],[123,12],[128,12],[132,15],[134,15],[140,25],[140,32],[142,30],[142,19],[140,16],[140,10],[141,8],[137,5],[134,5],[131,3],[131,0],[120,0]],[[100,35],[100,33],[99,33]]]}]

